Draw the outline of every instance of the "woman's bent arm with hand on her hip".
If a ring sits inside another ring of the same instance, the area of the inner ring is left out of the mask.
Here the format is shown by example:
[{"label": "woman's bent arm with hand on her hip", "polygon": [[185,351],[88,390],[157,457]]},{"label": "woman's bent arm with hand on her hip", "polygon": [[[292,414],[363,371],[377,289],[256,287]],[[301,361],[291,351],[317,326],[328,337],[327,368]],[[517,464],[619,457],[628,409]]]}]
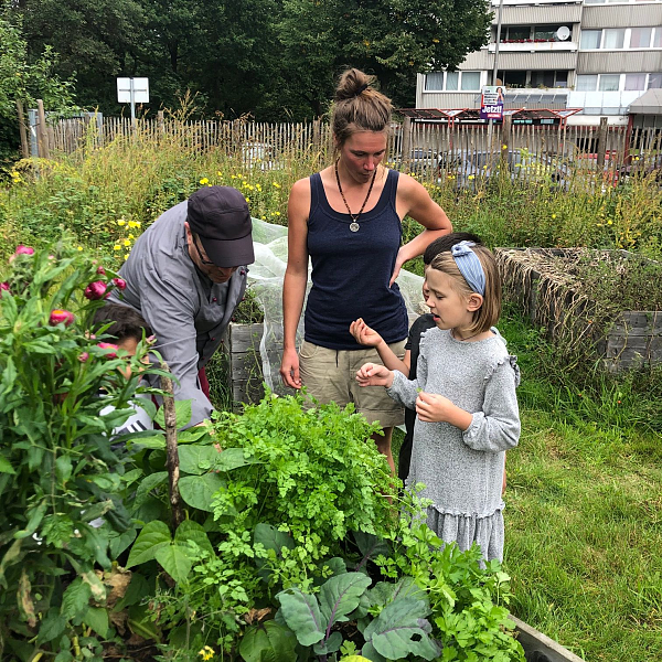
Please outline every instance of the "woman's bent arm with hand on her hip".
[{"label": "woman's bent arm with hand on her hip", "polygon": [[412,216],[425,229],[398,250],[395,270],[391,278],[392,285],[407,260],[423,255],[436,238],[452,232],[452,225],[446,212],[430,197],[419,182],[407,174],[401,174],[398,178],[396,205],[401,218],[406,215]]}]

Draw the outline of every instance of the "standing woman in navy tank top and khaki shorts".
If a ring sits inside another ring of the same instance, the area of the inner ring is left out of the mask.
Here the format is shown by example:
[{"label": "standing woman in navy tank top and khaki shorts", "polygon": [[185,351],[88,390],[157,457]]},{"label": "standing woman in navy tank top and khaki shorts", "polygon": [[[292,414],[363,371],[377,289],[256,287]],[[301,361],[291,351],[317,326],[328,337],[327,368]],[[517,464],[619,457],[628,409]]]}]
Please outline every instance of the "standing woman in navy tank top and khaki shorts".
[{"label": "standing woman in navy tank top and khaki shorts", "polygon": [[[384,436],[374,439],[393,470],[391,434],[404,414],[383,389],[357,386],[356,370],[380,359],[374,348],[354,340],[350,324],[363,318],[402,357],[408,323],[395,279],[408,259],[452,228],[421,184],[381,164],[392,106],[373,83],[359,70],[344,72],[331,120],[335,162],[299,180],[290,192],[280,374],[288,386],[306,386],[321,403],[352,402],[369,421],[378,420]],[[424,229],[402,246],[401,221],[407,214]],[[309,258],[312,288],[298,351]]]}]

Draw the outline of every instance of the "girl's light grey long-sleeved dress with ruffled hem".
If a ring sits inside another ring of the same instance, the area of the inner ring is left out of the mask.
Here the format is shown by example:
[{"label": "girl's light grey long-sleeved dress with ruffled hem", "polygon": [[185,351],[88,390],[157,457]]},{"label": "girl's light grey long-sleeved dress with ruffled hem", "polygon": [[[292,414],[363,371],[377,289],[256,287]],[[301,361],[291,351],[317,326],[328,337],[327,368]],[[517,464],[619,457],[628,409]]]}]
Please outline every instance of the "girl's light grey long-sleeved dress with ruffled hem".
[{"label": "girl's light grey long-sleeved dress with ruffled hem", "polygon": [[501,487],[505,451],[520,438],[519,383],[516,357],[501,337],[466,342],[434,328],[420,339],[417,378],[395,372],[387,389],[405,407],[415,408],[420,388],[472,414],[465,431],[416,418],[407,487],[426,485],[427,523],[442,541],[462,551],[476,542],[487,560],[503,559]]}]

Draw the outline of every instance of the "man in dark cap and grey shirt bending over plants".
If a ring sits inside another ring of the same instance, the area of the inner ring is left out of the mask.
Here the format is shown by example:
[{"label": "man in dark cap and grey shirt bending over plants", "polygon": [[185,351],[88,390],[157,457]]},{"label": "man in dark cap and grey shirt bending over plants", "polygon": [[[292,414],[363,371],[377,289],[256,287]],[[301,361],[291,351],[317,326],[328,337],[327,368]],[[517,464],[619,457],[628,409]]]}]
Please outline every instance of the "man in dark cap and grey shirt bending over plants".
[{"label": "man in dark cap and grey shirt bending over plants", "polygon": [[246,290],[246,265],[255,261],[252,229],[236,189],[200,189],[138,238],[119,270],[127,288],[110,296],[152,328],[156,349],[180,382],[175,398],[192,401],[189,425],[212,412],[204,366]]}]

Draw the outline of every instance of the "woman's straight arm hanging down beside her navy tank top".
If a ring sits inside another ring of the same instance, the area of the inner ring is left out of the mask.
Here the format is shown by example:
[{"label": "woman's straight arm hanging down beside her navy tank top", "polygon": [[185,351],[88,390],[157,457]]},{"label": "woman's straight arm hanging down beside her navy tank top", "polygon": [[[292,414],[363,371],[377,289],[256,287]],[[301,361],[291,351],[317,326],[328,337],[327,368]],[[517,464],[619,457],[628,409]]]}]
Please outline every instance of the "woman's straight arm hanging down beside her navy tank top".
[{"label": "woman's straight arm hanging down beside her navy tank top", "polygon": [[301,388],[299,356],[297,354],[297,327],[303,309],[308,284],[308,214],[310,210],[310,182],[299,180],[292,186],[288,201],[287,269],[282,281],[284,346],[280,375],[287,386]]}]

